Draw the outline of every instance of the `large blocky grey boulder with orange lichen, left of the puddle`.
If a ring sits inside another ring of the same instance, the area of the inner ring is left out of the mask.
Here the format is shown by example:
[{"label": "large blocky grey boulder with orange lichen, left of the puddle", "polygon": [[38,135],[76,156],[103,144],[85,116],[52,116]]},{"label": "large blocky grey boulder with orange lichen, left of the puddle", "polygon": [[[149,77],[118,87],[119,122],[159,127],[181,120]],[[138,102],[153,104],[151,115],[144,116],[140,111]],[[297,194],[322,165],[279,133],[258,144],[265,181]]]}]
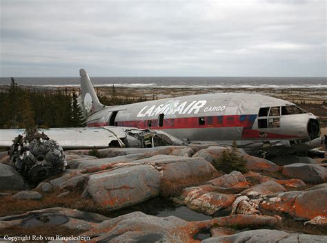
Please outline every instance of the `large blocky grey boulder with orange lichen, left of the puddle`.
[{"label": "large blocky grey boulder with orange lichen, left of the puddle", "polygon": [[150,165],[122,167],[90,175],[83,196],[115,210],[159,195],[160,173]]}]

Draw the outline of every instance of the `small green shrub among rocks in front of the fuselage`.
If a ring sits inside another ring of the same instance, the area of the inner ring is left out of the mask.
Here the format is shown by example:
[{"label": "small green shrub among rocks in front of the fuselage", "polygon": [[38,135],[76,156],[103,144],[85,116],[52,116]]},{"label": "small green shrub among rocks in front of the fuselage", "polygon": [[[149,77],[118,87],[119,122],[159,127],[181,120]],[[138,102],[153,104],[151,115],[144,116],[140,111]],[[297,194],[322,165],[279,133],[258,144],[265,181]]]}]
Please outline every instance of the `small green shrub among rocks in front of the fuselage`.
[{"label": "small green shrub among rocks in front of the fuselage", "polygon": [[225,173],[230,173],[232,171],[245,173],[248,171],[248,169],[246,169],[246,162],[243,159],[243,156],[239,156],[236,141],[232,142],[232,149],[225,149],[219,158],[212,162],[212,165],[218,171],[224,171]]}]

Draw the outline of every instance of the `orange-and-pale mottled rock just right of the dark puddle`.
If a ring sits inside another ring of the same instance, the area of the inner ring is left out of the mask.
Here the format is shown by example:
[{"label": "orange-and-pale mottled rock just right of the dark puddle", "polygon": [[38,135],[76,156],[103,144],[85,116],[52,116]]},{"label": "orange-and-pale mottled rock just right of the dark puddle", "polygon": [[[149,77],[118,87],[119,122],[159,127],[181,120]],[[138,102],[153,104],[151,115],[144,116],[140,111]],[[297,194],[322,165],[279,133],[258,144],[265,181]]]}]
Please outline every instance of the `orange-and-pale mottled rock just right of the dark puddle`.
[{"label": "orange-and-pale mottled rock just right of the dark puddle", "polygon": [[190,209],[212,215],[230,207],[235,196],[205,191],[201,187],[188,187],[182,191],[178,200]]}]

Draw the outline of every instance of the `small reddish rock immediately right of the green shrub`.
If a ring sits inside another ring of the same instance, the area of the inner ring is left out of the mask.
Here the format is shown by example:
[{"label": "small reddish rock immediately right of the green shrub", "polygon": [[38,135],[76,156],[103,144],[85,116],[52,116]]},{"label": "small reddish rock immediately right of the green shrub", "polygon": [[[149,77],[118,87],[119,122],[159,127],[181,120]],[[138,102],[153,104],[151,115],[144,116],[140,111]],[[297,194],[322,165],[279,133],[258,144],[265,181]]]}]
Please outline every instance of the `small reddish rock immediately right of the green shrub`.
[{"label": "small reddish rock immediately right of the green shrub", "polygon": [[248,154],[245,154],[243,158],[246,161],[246,168],[250,171],[277,172],[281,169],[279,165],[276,165],[275,163],[270,162],[264,158],[258,158]]}]

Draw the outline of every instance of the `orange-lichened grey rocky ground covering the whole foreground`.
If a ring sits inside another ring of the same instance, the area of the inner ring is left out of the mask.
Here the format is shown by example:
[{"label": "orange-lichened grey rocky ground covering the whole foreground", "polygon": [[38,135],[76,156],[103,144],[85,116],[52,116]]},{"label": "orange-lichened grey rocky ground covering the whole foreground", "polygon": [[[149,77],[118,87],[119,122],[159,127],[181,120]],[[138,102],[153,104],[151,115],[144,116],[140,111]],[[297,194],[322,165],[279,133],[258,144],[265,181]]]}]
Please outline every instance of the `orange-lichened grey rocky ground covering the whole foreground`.
[{"label": "orange-lichened grey rocky ground covering the whole foreground", "polygon": [[[68,169],[34,187],[1,152],[0,237],[26,235],[34,242],[56,237],[63,242],[71,235],[91,242],[327,242],[325,167],[291,157],[288,162],[277,159],[277,165],[240,149],[248,172],[222,173],[211,163],[224,149],[215,143],[100,149],[103,158],[88,156],[88,150],[66,151]],[[158,197],[210,217],[188,221],[137,210]]]}]

